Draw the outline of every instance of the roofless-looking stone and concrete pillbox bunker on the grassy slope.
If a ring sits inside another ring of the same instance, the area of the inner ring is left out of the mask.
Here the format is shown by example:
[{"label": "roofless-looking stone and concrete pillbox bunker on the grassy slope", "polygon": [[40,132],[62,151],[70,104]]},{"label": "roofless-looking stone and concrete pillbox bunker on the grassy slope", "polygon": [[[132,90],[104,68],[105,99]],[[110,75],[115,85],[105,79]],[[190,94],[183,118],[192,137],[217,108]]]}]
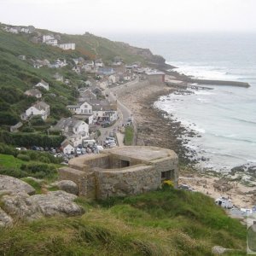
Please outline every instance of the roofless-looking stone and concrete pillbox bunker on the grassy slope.
[{"label": "roofless-looking stone and concrete pillbox bunker on the grassy slope", "polygon": [[166,178],[177,187],[177,166],[177,154],[170,149],[123,147],[70,160],[69,167],[59,169],[59,177],[77,183],[79,195],[106,198],[155,190]]}]

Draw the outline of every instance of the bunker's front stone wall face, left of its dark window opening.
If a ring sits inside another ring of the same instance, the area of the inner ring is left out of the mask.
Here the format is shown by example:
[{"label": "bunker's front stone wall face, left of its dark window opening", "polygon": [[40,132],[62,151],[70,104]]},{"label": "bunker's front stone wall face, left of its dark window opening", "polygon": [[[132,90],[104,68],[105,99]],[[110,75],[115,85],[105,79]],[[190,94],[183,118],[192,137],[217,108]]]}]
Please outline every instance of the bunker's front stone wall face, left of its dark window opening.
[{"label": "bunker's front stone wall face, left of its dark window opening", "polygon": [[154,166],[139,165],[119,171],[98,171],[96,198],[136,195],[160,187],[160,172]]}]

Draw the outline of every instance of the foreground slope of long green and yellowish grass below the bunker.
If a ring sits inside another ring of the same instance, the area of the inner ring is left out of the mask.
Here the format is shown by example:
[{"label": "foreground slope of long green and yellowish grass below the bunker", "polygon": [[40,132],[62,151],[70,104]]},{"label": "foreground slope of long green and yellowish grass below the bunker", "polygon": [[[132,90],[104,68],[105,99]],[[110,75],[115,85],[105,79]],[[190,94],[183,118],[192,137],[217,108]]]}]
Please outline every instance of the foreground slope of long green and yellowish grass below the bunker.
[{"label": "foreground slope of long green and yellowish grass below the bunker", "polygon": [[[0,232],[4,255],[212,255],[241,249],[246,228],[200,193],[176,189],[107,201],[77,200],[86,213],[45,218]],[[227,254],[226,254],[227,255]]]}]

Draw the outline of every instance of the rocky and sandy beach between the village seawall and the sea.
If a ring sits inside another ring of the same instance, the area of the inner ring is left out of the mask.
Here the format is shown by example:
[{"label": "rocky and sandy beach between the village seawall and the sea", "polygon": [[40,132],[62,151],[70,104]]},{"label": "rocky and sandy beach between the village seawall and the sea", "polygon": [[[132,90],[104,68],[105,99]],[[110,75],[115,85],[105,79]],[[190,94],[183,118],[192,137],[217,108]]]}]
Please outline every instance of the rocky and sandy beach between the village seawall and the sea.
[{"label": "rocky and sandy beach between the village seawall and the sea", "polygon": [[[171,78],[175,79],[175,77]],[[117,91],[120,102],[131,109],[133,118],[137,124],[137,145],[150,145],[174,150],[180,162],[179,183],[217,199],[219,196],[229,197],[236,207],[253,207],[256,189],[247,187],[235,181],[228,181],[223,177],[217,177],[214,173],[201,173],[193,170],[190,160],[191,154],[196,154],[186,148],[186,141],[182,136],[190,137],[196,134],[188,134],[190,131],[180,125],[172,115],[166,119],[166,113],[154,108],[154,102],[163,95],[173,92],[174,88],[165,84],[140,84],[132,86],[132,89]],[[193,170],[193,171],[192,171]]]}]

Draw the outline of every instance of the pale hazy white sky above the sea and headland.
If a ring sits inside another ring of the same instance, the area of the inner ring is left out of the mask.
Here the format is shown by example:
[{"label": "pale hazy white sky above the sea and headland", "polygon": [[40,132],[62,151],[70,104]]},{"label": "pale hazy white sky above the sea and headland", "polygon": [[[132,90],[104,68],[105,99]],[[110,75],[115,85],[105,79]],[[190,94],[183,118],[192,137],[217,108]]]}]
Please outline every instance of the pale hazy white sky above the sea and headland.
[{"label": "pale hazy white sky above the sea and headland", "polygon": [[56,32],[256,32],[256,0],[0,0],[0,22]]}]

